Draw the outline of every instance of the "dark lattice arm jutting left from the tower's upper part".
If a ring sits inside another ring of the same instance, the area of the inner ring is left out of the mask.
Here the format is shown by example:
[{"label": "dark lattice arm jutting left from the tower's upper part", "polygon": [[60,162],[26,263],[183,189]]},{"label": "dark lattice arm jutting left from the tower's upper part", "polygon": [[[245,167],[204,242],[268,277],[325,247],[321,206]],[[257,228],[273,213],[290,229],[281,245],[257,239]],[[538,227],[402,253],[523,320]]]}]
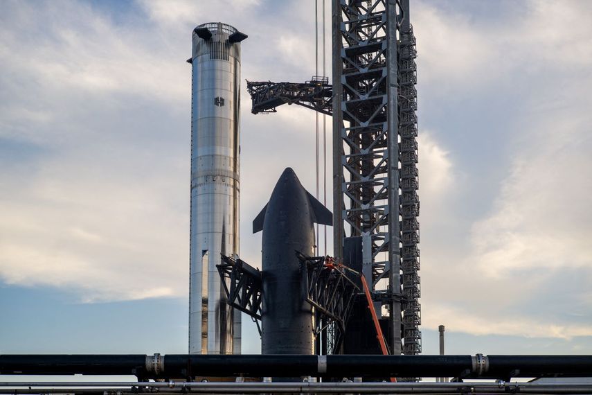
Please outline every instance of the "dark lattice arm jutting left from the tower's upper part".
[{"label": "dark lattice arm jutting left from the tower's upper part", "polygon": [[282,104],[297,104],[322,114],[333,112],[333,89],[327,77],[313,77],[306,82],[246,81],[253,114],[277,112]]}]

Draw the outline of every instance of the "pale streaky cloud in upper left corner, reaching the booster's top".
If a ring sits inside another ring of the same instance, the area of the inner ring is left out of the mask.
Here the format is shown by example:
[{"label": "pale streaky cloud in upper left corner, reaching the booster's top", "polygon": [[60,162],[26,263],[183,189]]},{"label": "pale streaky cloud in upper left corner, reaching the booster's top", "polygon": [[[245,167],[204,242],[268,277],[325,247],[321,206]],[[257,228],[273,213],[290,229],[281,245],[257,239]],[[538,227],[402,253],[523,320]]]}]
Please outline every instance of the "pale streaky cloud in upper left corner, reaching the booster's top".
[{"label": "pale streaky cloud in upper left corner, reaching the booster's top", "polygon": [[[148,32],[143,28],[114,26],[108,17],[84,3],[75,4],[69,11],[59,6],[39,6],[52,20],[43,34],[22,34],[26,29],[39,30],[35,25],[38,13],[30,9],[27,13],[33,18],[23,17],[18,25],[12,21],[2,29],[3,35],[10,37],[3,40],[5,65],[33,78],[39,89],[54,93],[75,89],[97,95],[112,91],[156,94],[162,100],[183,98],[183,73],[171,71],[186,69],[186,65],[173,60],[170,53],[163,53],[162,48],[150,51],[154,42],[146,40]],[[15,31],[21,34],[15,35]]]}]

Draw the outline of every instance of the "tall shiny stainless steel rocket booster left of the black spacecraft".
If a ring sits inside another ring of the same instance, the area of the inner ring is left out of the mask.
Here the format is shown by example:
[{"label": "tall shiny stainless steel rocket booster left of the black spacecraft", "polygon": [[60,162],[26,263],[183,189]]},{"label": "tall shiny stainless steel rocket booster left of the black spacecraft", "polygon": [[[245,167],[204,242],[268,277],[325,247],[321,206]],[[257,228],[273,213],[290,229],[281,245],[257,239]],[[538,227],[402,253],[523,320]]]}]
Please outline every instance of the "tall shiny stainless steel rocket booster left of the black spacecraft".
[{"label": "tall shiny stainless steel rocket booster left of the black spacecraft", "polygon": [[222,23],[192,36],[189,352],[240,353],[240,312],[216,265],[239,252],[240,42]]}]

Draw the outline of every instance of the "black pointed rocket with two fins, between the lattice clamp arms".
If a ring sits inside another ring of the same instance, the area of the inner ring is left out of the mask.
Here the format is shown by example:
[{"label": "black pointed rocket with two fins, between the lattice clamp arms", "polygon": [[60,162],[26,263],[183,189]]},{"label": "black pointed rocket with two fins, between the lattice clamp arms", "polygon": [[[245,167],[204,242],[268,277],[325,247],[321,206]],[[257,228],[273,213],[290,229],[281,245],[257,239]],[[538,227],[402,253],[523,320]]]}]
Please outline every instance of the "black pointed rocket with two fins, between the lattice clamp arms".
[{"label": "black pointed rocket with two fins, between the lattice clamp arms", "polygon": [[253,220],[262,234],[263,354],[312,354],[312,306],[295,252],[313,255],[314,222],[332,225],[332,213],[286,168],[269,202]]}]

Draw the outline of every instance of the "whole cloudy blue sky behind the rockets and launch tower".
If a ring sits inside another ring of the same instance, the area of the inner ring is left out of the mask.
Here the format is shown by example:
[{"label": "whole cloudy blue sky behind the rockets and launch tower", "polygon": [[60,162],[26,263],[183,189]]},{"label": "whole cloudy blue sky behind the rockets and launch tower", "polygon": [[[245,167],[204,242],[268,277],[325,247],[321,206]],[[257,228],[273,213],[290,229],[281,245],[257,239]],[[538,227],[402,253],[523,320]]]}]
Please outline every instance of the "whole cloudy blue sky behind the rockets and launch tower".
[{"label": "whole cloudy blue sky behind the rockets and launch tower", "polygon": [[[2,8],[0,353],[186,353],[192,29],[249,35],[243,80],[304,81],[314,2]],[[423,353],[445,324],[447,353],[592,354],[590,19],[586,0],[411,1]],[[282,170],[315,189],[315,116],[255,116],[241,89],[240,256],[256,266],[251,221]],[[248,317],[243,333],[258,353]]]}]

